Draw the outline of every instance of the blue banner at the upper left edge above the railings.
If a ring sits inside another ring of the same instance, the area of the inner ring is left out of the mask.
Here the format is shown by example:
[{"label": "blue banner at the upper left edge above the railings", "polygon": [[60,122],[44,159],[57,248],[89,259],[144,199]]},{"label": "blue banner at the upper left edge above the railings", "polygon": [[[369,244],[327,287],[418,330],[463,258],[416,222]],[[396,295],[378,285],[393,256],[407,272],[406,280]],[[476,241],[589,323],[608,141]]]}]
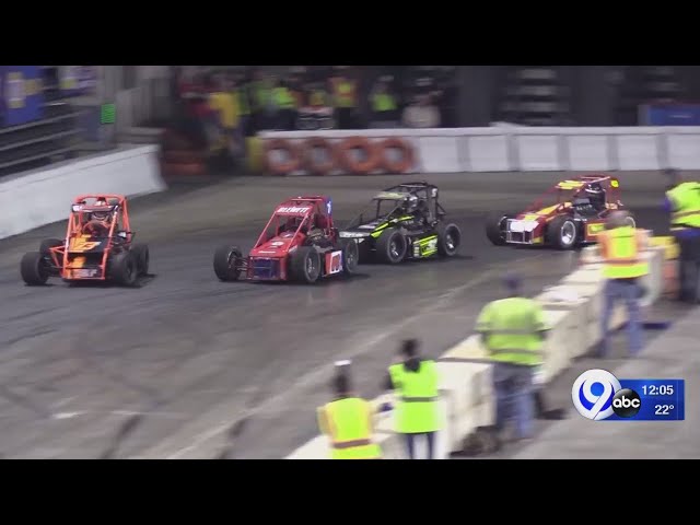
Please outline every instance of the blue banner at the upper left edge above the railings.
[{"label": "blue banner at the upper left edge above the railings", "polygon": [[20,126],[44,116],[38,66],[0,66],[0,126]]}]

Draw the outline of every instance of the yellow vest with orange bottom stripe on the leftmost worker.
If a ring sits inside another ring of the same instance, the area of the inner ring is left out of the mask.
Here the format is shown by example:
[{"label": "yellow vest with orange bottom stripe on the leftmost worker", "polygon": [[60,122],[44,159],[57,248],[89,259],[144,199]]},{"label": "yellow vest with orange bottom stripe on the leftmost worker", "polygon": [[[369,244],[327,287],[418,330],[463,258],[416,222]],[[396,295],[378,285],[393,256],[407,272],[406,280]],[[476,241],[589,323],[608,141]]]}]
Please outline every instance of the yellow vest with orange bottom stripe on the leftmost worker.
[{"label": "yellow vest with orange bottom stripe on the leftmost worker", "polygon": [[[331,459],[378,459],[380,445],[372,442],[372,406],[359,397],[347,397],[323,408],[330,436]],[[324,424],[320,424],[322,429]]]}]

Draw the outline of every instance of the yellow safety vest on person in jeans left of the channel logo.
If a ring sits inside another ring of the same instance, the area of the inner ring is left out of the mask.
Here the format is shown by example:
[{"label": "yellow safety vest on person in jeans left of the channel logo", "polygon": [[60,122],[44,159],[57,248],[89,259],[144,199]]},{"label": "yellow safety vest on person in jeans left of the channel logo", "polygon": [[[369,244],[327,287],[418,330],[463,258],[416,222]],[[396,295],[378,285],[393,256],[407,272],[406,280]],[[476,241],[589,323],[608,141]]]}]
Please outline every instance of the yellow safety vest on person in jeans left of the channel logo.
[{"label": "yellow safety vest on person in jeans left of the channel logo", "polygon": [[487,304],[477,319],[491,360],[537,366],[542,363],[539,332],[547,326],[538,303],[527,298],[508,298]]}]

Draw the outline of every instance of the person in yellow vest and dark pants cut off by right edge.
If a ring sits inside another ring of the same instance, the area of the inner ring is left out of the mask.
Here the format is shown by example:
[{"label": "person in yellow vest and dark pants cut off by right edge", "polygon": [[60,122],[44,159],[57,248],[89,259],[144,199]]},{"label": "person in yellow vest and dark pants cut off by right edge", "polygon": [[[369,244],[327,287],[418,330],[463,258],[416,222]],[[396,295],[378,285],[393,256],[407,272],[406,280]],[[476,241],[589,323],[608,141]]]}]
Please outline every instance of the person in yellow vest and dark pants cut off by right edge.
[{"label": "person in yellow vest and dark pants cut off by right edge", "polygon": [[700,183],[684,182],[676,170],[670,177],[664,208],[670,215],[670,233],[679,248],[680,301],[700,302]]}]

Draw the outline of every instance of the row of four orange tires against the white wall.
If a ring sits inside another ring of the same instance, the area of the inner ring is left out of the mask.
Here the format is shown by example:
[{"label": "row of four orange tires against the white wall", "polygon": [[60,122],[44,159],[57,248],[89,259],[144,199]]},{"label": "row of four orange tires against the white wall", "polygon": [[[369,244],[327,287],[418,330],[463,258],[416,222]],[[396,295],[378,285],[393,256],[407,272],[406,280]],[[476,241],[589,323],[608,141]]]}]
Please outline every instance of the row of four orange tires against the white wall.
[{"label": "row of four orange tires against the white wall", "polygon": [[[416,165],[411,141],[400,137],[368,138],[349,136],[329,139],[320,136],[305,138],[262,138],[265,165],[271,175],[371,175],[378,173],[409,173]],[[319,161],[314,150],[324,150]],[[277,152],[288,158],[280,161]],[[355,154],[361,150],[361,156]],[[398,158],[392,153],[398,152]]]}]

